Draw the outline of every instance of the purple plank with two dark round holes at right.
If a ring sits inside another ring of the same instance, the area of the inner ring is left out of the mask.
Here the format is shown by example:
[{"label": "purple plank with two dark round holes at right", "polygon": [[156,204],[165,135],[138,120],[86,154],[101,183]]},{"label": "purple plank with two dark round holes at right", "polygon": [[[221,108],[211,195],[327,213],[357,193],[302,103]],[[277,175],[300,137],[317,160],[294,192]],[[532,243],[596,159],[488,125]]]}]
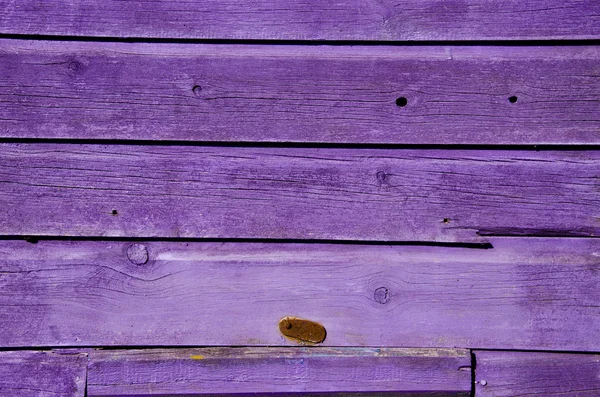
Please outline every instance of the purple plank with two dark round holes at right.
[{"label": "purple plank with two dark round holes at right", "polygon": [[593,46],[2,40],[0,136],[598,144],[599,64]]}]

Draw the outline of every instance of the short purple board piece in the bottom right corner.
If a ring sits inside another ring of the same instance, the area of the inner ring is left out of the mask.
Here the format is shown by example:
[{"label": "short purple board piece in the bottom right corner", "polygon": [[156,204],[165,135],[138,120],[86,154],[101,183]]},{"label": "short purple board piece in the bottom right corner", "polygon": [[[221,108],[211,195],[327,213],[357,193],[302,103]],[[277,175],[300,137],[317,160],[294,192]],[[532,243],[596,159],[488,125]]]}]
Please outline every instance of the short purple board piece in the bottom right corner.
[{"label": "short purple board piece in the bottom right corner", "polygon": [[600,355],[477,351],[476,396],[598,396]]}]

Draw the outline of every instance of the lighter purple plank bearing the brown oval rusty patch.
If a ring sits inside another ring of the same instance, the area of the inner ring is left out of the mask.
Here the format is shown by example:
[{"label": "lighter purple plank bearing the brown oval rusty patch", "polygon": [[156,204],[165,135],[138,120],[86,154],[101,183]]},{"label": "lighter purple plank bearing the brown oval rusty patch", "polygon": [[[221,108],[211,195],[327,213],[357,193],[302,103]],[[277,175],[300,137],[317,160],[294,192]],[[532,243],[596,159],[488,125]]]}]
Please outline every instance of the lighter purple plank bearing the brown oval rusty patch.
[{"label": "lighter purple plank bearing the brown oval rusty patch", "polygon": [[2,346],[600,349],[600,240],[493,249],[258,243],[0,242]]}]

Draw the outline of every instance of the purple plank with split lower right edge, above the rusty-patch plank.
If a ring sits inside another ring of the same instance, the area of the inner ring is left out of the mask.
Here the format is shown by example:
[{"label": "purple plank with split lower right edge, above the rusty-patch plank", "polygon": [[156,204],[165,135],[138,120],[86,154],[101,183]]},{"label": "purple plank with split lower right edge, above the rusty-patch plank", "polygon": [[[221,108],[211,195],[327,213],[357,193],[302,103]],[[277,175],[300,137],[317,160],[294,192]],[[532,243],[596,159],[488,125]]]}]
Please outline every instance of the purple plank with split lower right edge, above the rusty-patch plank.
[{"label": "purple plank with split lower right edge, above the rusty-patch plank", "polygon": [[0,147],[4,235],[484,242],[600,229],[597,151]]}]

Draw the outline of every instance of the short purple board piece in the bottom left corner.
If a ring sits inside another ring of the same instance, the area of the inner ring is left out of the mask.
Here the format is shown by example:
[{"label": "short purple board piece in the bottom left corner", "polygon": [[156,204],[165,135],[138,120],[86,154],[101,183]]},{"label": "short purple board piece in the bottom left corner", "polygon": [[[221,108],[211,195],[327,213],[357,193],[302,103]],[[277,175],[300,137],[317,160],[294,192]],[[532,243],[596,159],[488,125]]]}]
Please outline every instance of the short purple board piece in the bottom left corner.
[{"label": "short purple board piece in the bottom left corner", "polygon": [[0,352],[0,395],[84,397],[86,366],[87,357],[81,353]]}]

